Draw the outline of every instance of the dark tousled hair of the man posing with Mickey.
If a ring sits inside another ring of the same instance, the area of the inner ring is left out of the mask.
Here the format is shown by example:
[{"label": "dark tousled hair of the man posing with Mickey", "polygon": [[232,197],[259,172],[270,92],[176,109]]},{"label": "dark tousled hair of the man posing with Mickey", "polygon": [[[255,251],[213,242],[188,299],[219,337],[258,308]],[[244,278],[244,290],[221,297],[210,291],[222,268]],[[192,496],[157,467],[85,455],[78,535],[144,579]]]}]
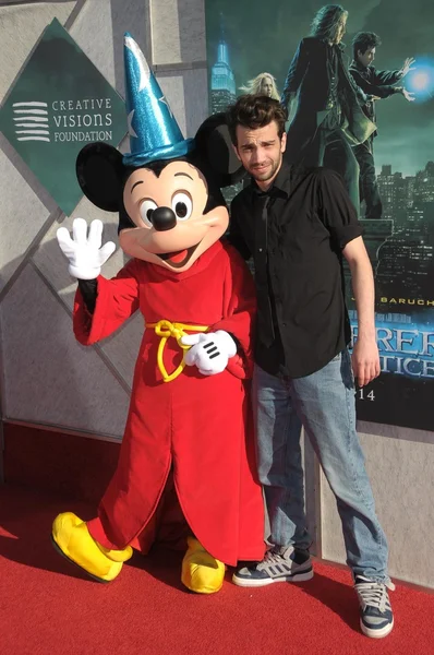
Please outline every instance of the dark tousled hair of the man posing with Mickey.
[{"label": "dark tousled hair of the man posing with Mickey", "polygon": [[285,132],[285,122],[288,119],[287,110],[279,100],[263,95],[242,95],[234,105],[228,107],[228,127],[233,145],[237,145],[237,127],[265,128],[274,120],[277,122],[279,139]]}]

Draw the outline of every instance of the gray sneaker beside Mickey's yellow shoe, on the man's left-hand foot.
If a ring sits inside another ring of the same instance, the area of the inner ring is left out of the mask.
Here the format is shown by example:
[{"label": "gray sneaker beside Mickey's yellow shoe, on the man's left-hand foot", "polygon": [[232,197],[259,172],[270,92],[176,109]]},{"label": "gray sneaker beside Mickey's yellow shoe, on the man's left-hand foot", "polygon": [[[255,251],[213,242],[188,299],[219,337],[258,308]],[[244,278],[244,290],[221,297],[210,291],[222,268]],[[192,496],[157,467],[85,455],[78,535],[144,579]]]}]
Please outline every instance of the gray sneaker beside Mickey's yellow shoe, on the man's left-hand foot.
[{"label": "gray sneaker beside Mickey's yellow shoe, on the man's left-hand foot", "polygon": [[237,571],[232,582],[238,586],[256,587],[274,582],[303,582],[312,577],[313,569],[309,551],[288,546],[268,550],[257,564]]}]

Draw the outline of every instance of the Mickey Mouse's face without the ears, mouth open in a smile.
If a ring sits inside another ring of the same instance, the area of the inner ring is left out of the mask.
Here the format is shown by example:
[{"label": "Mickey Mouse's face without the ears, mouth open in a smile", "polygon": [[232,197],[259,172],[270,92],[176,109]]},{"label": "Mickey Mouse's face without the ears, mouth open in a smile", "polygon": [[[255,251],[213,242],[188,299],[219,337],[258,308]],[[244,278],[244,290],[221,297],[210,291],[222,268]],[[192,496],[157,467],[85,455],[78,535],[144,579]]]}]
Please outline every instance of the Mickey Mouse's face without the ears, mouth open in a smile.
[{"label": "Mickey Mouse's face without the ears, mouth open in a smile", "polygon": [[186,271],[226,231],[226,206],[205,212],[208,188],[188,162],[169,163],[157,176],[137,168],[128,178],[123,204],[136,227],[122,229],[122,250],[159,266]]}]

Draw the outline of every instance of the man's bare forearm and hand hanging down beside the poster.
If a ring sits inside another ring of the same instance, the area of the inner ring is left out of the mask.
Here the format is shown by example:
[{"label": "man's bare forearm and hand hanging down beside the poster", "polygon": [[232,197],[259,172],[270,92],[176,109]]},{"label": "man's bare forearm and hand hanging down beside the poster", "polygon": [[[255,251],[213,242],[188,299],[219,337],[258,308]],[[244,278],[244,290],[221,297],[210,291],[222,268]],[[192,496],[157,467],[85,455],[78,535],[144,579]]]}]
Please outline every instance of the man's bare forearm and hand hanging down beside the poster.
[{"label": "man's bare forearm and hand hanging down beside the poster", "polygon": [[342,250],[351,271],[358,312],[358,340],[352,352],[352,370],[360,386],[379,376],[379,356],[375,333],[375,288],[372,266],[362,237]]}]

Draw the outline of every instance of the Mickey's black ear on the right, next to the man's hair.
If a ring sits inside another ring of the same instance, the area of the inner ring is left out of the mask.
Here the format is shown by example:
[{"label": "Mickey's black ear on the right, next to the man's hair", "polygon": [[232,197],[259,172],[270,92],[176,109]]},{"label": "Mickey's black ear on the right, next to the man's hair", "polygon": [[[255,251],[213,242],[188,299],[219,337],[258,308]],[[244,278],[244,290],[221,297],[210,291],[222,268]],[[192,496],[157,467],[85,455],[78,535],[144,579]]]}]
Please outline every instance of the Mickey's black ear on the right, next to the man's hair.
[{"label": "Mickey's black ear on the right, next to the man's hair", "polygon": [[196,148],[216,176],[222,189],[239,182],[244,168],[233,148],[226,114],[214,114],[198,128],[194,138]]}]

